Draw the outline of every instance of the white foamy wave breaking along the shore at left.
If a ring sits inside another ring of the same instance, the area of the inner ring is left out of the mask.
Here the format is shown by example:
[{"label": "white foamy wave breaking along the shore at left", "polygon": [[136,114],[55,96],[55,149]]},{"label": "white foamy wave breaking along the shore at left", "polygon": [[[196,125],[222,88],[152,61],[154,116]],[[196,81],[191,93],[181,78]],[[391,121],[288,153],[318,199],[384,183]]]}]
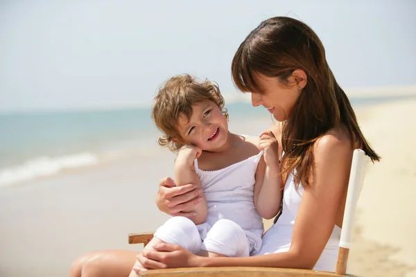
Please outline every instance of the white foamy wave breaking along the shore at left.
[{"label": "white foamy wave breaking along the shore at left", "polygon": [[61,157],[38,157],[19,166],[0,169],[0,186],[10,186],[39,177],[48,177],[62,170],[94,166],[97,163],[98,157],[89,152]]}]

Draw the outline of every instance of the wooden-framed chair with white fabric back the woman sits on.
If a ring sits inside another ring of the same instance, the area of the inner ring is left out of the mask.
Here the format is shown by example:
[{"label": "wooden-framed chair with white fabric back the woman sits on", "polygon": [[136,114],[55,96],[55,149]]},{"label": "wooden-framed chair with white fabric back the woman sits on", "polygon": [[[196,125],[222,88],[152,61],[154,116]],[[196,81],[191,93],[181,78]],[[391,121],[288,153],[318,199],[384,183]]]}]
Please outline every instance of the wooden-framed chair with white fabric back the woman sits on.
[{"label": "wooden-framed chair with white fabric back the woman sits on", "polygon": [[[315,271],[306,269],[282,269],[270,267],[189,267],[180,269],[155,269],[144,272],[143,276],[152,277],[306,277],[306,276],[349,276],[346,274],[349,248],[351,247],[352,229],[354,224],[354,214],[358,202],[358,197],[363,188],[365,171],[369,159],[363,150],[354,150],[352,158],[351,172],[347,191],[347,201],[343,220],[343,229],[340,237],[340,250],[336,272]],[[130,244],[143,243],[145,246],[153,238],[153,233],[130,233],[128,242]]]}]

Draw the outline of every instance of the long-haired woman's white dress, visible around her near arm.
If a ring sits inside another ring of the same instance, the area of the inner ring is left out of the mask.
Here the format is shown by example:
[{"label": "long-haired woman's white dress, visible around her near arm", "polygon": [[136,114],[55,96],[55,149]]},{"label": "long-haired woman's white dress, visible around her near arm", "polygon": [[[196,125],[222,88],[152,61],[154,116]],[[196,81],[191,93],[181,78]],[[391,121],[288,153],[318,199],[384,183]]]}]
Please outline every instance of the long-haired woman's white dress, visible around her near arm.
[{"label": "long-haired woman's white dress, visible around her near arm", "polygon": [[[277,220],[277,222],[263,235],[263,246],[260,251],[253,253],[253,256],[287,252],[290,249],[293,226],[295,224],[295,218],[297,211],[299,210],[303,192],[304,188],[302,186],[299,186],[296,191],[293,175],[291,174],[284,186],[283,208],[279,220]],[[341,229],[335,225],[331,237],[313,269],[335,271],[340,233]]]}]

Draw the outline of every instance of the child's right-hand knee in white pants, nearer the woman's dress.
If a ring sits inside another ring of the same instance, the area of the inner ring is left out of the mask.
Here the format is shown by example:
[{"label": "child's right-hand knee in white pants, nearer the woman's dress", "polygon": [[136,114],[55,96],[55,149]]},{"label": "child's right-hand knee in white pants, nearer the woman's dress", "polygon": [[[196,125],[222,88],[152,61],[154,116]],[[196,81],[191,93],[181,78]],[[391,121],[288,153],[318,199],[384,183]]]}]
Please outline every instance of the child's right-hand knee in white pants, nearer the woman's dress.
[{"label": "child's right-hand knee in white pants, nearer the woman's dress", "polygon": [[[207,233],[201,249],[207,251],[208,256],[248,257],[250,242],[239,224],[218,220]],[[200,254],[206,255],[204,251]]]}]

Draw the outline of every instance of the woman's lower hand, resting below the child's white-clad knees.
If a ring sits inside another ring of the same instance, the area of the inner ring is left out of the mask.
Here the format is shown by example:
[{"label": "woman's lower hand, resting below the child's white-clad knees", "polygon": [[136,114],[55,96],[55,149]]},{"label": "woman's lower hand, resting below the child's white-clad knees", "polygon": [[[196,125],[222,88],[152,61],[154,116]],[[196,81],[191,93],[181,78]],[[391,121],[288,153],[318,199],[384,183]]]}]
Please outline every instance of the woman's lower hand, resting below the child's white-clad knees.
[{"label": "woman's lower hand, resting below the child's white-clad knees", "polygon": [[200,267],[200,259],[177,244],[160,243],[153,245],[155,251],[142,251],[137,260],[146,269],[166,269],[177,267]]}]

